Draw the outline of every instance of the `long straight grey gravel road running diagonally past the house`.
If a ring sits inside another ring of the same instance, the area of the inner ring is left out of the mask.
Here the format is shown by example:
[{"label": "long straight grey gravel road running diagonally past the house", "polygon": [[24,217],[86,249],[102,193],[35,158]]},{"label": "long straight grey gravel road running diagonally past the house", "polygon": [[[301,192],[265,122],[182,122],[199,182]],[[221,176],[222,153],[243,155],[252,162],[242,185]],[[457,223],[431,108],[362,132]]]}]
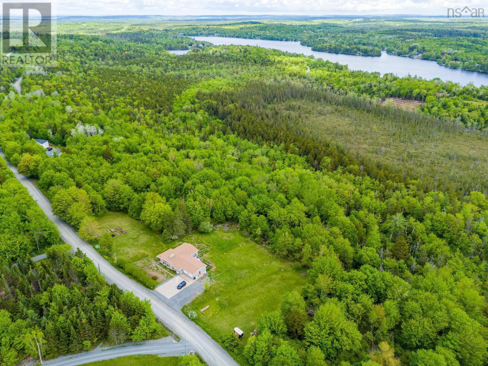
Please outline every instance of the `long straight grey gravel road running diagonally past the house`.
[{"label": "long straight grey gravel road running diagonally past the house", "polygon": [[[0,149],[0,156],[4,158],[3,151]],[[191,344],[192,349],[198,352],[203,360],[210,366],[238,366],[237,362],[217,344],[202,328],[190,321],[181,311],[176,311],[169,305],[153,294],[150,290],[131,280],[122,272],[115,269],[108,263],[90,244],[81,239],[75,229],[63,221],[60,217],[55,216],[51,209],[51,204],[34,183],[26,177],[19,174],[17,168],[7,162],[8,167],[15,174],[15,177],[27,188],[30,195],[37,201],[42,211],[51,219],[61,234],[61,239],[65,243],[71,244],[76,249],[80,248],[83,253],[90,258],[100,272],[105,276],[105,280],[112,284],[118,285],[122,290],[132,291],[140,299],[148,299],[151,302],[152,309],[156,317],[161,320],[169,329],[178,334],[181,339],[186,339]]]}]

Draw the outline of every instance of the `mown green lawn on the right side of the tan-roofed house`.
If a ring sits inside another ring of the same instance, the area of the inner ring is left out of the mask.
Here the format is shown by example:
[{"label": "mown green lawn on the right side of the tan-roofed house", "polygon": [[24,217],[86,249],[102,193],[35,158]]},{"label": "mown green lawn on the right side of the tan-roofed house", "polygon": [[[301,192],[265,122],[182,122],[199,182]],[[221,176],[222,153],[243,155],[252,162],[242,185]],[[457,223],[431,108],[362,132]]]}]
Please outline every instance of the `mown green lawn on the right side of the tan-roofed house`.
[{"label": "mown green lawn on the right side of the tan-roofed house", "polygon": [[[220,228],[210,234],[190,234],[181,239],[196,245],[203,260],[216,265],[209,274],[210,287],[184,306],[183,312],[195,310],[195,322],[217,342],[234,327],[241,328],[244,337],[240,340],[240,354],[258,316],[278,309],[286,292],[300,291],[305,285],[305,278],[295,265],[274,257],[267,248],[235,229]],[[206,305],[210,307],[201,313]],[[241,358],[237,361],[245,365]]]}]

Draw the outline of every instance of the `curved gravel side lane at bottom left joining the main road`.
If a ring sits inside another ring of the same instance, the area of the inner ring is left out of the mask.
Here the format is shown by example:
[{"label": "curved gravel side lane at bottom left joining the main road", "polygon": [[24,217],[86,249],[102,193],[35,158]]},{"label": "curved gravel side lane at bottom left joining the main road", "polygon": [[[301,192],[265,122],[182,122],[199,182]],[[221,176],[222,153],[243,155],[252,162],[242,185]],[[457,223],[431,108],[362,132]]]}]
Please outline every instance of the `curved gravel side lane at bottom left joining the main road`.
[{"label": "curved gravel side lane at bottom left joining the main road", "polygon": [[182,356],[188,353],[190,348],[184,345],[184,341],[176,342],[171,337],[157,339],[154,341],[141,342],[139,344],[95,348],[89,352],[77,353],[69,356],[62,356],[54,360],[45,361],[46,366],[78,366],[90,362],[111,360],[113,358],[133,355],[161,355],[161,356]]}]

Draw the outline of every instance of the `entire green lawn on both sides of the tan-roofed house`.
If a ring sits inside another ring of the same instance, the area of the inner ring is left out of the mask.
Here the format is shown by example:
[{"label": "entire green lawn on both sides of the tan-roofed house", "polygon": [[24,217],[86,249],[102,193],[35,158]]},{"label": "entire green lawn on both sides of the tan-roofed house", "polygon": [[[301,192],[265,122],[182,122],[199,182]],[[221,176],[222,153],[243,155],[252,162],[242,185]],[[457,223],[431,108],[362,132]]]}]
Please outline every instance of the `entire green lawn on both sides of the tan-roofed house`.
[{"label": "entire green lawn on both sides of the tan-roofed house", "polygon": [[[102,230],[120,226],[127,231],[127,234],[113,238],[113,250],[118,259],[128,260],[146,271],[158,271],[155,258],[170,247],[187,242],[199,248],[205,263],[212,261],[215,268],[209,271],[209,288],[185,305],[183,312],[187,314],[189,309],[195,310],[195,322],[217,342],[234,327],[241,328],[244,337],[240,341],[239,354],[242,354],[258,316],[264,311],[278,309],[286,292],[300,291],[305,285],[297,264],[273,256],[263,245],[244,237],[236,227],[219,228],[210,234],[195,232],[178,241],[163,243],[161,235],[126,213],[109,212],[98,221]],[[201,313],[200,309],[206,305],[210,308]],[[240,364],[246,364],[242,356],[235,357]]]}]

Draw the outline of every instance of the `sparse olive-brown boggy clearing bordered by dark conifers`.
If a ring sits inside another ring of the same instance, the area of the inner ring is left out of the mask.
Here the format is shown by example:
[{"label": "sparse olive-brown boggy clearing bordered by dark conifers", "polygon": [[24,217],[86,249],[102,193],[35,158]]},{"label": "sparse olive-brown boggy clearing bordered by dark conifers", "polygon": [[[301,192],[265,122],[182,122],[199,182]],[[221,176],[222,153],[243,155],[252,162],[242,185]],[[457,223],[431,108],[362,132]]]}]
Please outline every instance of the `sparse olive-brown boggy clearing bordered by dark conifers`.
[{"label": "sparse olive-brown boggy clearing bordered by dark conifers", "polygon": [[[332,141],[394,170],[411,172],[431,182],[466,190],[483,190],[488,169],[488,140],[439,121],[421,125],[325,103],[288,102],[281,105],[283,120],[299,121],[305,136]],[[298,123],[298,122],[296,122]]]}]

